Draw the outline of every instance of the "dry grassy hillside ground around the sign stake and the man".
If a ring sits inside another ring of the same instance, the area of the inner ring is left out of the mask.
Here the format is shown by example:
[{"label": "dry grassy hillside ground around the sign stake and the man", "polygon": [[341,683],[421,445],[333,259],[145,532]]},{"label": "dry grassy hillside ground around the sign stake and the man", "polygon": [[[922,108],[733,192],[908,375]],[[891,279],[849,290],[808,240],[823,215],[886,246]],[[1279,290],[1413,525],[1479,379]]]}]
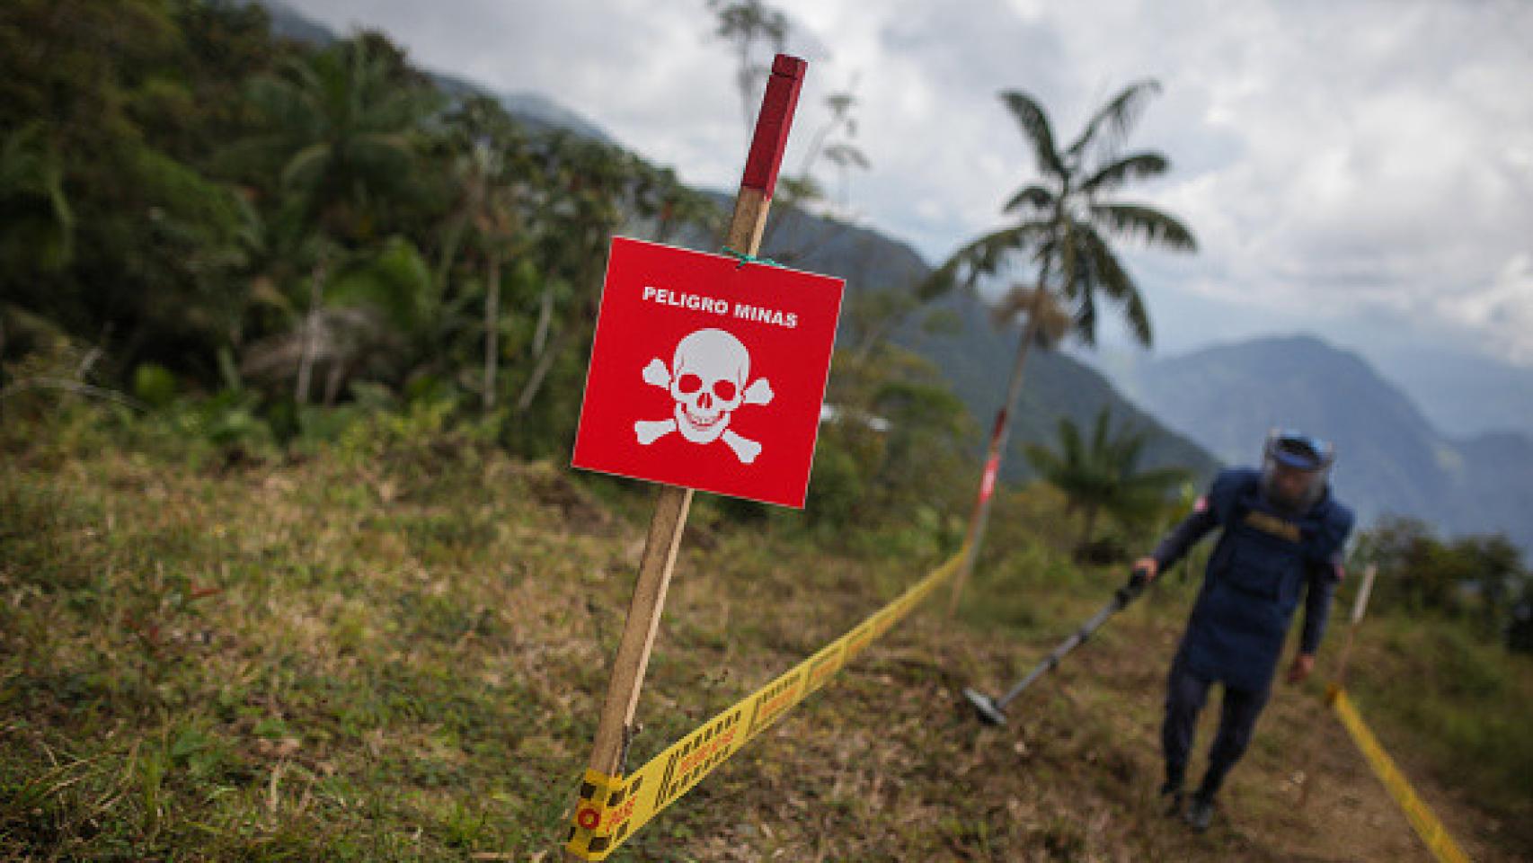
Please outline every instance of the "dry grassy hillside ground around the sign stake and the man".
[{"label": "dry grassy hillside ground around the sign stake and the man", "polygon": [[[0,429],[0,858],[558,858],[647,495],[434,423],[239,457],[100,414]],[[958,690],[1013,681],[1119,578],[1069,563],[1056,503],[1006,498],[957,621],[940,593],[613,858],[1423,858],[1318,684],[1274,697],[1220,828],[1157,817],[1191,582],[1114,619],[1012,725],[975,724]],[[632,763],[914,582],[949,533],[828,546],[793,517],[701,507]],[[1364,714],[1476,860],[1528,854],[1533,756],[1505,725],[1527,664],[1380,621],[1357,668]],[[1306,747],[1321,780],[1298,815]]]}]

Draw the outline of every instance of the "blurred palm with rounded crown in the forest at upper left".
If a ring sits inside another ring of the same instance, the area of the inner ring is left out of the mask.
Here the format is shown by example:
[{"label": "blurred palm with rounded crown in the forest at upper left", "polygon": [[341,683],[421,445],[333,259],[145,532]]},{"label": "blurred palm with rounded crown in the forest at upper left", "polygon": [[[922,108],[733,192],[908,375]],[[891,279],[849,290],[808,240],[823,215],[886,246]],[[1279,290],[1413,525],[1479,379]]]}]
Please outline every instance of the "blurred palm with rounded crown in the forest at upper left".
[{"label": "blurred palm with rounded crown in the forest at upper left", "polygon": [[250,97],[268,130],[238,150],[276,169],[281,189],[293,193],[293,207],[282,219],[294,235],[290,245],[314,248],[294,395],[304,403],[331,264],[330,244],[305,238],[325,228],[353,238],[369,233],[374,199],[409,176],[412,135],[431,103],[426,90],[402,81],[366,38],[293,60],[282,75],[258,78]]}]

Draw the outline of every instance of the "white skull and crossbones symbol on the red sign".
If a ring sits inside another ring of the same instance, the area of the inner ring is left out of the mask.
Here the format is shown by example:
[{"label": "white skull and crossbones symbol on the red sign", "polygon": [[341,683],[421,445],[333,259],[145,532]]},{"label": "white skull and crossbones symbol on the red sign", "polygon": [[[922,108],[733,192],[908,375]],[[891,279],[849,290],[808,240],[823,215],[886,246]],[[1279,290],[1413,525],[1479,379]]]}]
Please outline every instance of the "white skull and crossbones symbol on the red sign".
[{"label": "white skull and crossbones symbol on the red sign", "polygon": [[751,354],[739,339],[724,330],[698,330],[676,343],[670,366],[659,357],[644,366],[644,383],[670,391],[676,406],[668,420],[633,423],[633,434],[644,446],[670,432],[699,445],[722,440],[740,463],[753,463],[762,445],[736,434],[730,418],[742,405],[770,405],[773,391],[765,377],[750,376]]}]

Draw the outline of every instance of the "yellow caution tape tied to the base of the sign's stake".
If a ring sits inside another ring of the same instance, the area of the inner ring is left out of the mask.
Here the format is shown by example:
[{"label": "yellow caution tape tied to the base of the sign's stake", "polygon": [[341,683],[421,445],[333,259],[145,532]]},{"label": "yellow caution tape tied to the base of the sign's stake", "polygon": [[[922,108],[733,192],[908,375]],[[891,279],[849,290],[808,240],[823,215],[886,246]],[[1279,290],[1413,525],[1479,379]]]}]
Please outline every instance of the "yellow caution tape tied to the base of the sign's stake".
[{"label": "yellow caution tape tied to the base of the sign's stake", "polygon": [[814,694],[874,639],[909,615],[958,569],[963,553],[960,550],[898,599],[776,681],[704,722],[627,777],[586,771],[564,848],[583,860],[604,860],[650,819],[696,788],[716,766]]}]

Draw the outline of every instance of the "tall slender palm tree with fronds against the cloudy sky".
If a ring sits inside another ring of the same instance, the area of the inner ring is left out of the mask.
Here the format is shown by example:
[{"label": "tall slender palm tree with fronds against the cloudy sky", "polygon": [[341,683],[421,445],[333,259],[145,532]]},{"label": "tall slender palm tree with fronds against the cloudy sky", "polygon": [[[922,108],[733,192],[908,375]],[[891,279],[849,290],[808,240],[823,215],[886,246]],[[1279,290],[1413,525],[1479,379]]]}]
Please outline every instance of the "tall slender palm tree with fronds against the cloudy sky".
[{"label": "tall slender palm tree with fronds against the cloudy sky", "polygon": [[[1154,207],[1111,199],[1131,179],[1159,176],[1171,162],[1157,152],[1121,152],[1125,136],[1139,118],[1145,100],[1160,90],[1151,80],[1124,87],[1108,100],[1062,152],[1055,144],[1053,126],[1038,101],[1007,90],[1001,101],[1023,129],[1038,162],[1041,178],[1018,190],[1004,212],[1016,221],[987,233],[952,254],[923,285],[931,299],[957,287],[972,290],[983,276],[1000,274],[1027,253],[1036,267],[1030,287],[1019,285],[1001,308],[1027,314],[1027,326],[1016,346],[1006,402],[996,415],[986,461],[992,478],[1010,435],[1010,417],[1023,386],[1027,349],[1041,340],[1050,307],[1065,311],[1070,334],[1085,345],[1096,343],[1099,296],[1122,310],[1130,331],[1145,346],[1151,342],[1150,314],[1144,297],[1110,241],[1141,241],[1171,251],[1193,251],[1197,242],[1174,216]],[[973,569],[990,497],[981,494],[969,524],[969,553],[954,581],[952,605],[957,609],[963,584]]]}]

